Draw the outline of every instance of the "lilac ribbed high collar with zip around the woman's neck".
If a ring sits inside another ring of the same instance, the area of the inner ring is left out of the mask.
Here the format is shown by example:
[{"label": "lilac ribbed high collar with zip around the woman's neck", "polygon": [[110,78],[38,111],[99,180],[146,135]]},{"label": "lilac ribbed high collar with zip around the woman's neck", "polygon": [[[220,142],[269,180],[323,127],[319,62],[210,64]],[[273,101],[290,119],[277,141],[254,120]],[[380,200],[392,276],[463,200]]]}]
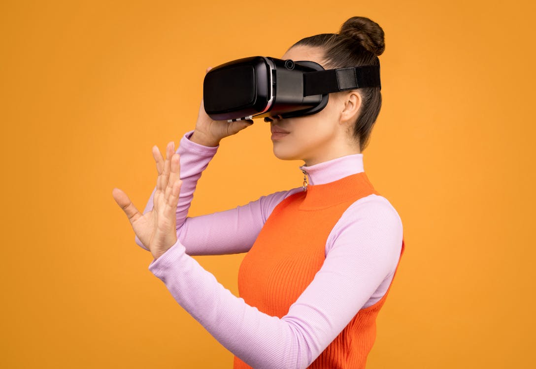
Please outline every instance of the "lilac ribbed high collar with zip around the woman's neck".
[{"label": "lilac ribbed high collar with zip around the woman's neck", "polygon": [[363,154],[351,154],[314,165],[301,165],[309,177],[309,185],[330,183],[352,174],[363,172]]}]

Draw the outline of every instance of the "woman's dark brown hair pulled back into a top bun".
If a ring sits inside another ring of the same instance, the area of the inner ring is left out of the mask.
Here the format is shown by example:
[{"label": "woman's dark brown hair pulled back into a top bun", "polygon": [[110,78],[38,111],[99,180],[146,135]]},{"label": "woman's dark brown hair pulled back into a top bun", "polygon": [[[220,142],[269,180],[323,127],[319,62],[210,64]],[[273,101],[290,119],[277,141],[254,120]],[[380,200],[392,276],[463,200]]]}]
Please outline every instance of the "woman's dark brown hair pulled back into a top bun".
[{"label": "woman's dark brown hair pulled back into a top bun", "polygon": [[[336,69],[362,65],[378,65],[378,55],[385,50],[382,27],[366,17],[352,17],[340,27],[338,34],[323,33],[306,37],[294,46],[320,47],[324,51],[325,69]],[[291,47],[291,48],[292,48]],[[356,119],[353,137],[359,138],[359,148],[367,147],[370,133],[382,107],[379,87],[358,88],[361,97],[361,111]]]}]

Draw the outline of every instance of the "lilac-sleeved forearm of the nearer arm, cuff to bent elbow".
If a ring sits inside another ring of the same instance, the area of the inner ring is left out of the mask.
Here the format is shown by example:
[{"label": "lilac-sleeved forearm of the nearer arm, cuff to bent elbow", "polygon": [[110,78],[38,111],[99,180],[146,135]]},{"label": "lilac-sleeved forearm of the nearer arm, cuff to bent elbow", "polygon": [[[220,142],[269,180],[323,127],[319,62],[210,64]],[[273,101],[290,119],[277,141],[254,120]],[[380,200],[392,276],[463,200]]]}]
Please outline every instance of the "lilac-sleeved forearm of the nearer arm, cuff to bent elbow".
[{"label": "lilac-sleeved forearm of the nearer arm, cuff to bent elbow", "polygon": [[311,362],[293,318],[259,312],[221,285],[177,243],[151,262],[149,270],[193,318],[225,348],[255,368],[305,368]]}]

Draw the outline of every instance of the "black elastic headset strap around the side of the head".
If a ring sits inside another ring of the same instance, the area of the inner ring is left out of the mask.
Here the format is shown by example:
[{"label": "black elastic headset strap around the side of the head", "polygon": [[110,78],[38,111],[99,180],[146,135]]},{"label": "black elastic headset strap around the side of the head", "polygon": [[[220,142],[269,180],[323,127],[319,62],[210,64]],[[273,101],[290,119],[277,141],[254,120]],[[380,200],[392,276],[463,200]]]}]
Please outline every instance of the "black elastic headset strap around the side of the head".
[{"label": "black elastic headset strap around the side of the head", "polygon": [[379,87],[379,66],[365,65],[303,73],[303,96],[324,95],[360,87]]}]

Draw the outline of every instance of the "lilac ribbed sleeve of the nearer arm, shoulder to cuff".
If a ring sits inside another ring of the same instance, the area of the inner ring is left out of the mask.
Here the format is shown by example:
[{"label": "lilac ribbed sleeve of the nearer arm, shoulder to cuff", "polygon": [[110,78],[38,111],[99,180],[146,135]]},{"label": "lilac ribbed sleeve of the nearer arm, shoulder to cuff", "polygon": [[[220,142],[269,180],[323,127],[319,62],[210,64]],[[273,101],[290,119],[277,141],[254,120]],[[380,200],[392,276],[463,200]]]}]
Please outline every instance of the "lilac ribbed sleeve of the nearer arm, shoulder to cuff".
[{"label": "lilac ribbed sleeve of the nearer arm, shoulder to cuff", "polygon": [[322,268],[282,318],[234,296],[186,253],[180,239],[148,269],[178,304],[245,363],[306,368],[396,268],[402,224],[382,199],[366,197],[346,210],[329,236]]}]

